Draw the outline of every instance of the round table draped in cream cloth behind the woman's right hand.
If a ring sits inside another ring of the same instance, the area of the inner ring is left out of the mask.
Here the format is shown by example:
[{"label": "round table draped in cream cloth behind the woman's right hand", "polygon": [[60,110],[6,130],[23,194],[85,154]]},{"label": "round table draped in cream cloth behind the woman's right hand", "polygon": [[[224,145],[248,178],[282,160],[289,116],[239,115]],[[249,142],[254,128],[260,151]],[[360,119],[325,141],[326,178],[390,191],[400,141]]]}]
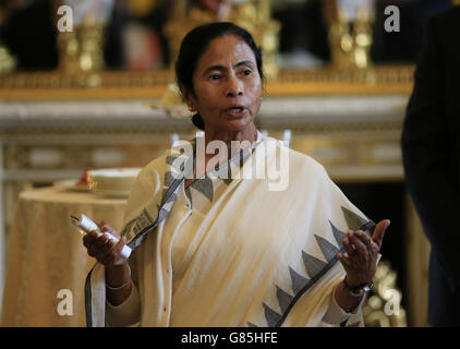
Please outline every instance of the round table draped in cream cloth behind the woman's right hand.
[{"label": "round table draped in cream cloth behind the woman's right hand", "polygon": [[22,192],[8,250],[2,326],[85,326],[84,284],[95,258],[70,216],[122,229],[125,198],[41,188]]}]

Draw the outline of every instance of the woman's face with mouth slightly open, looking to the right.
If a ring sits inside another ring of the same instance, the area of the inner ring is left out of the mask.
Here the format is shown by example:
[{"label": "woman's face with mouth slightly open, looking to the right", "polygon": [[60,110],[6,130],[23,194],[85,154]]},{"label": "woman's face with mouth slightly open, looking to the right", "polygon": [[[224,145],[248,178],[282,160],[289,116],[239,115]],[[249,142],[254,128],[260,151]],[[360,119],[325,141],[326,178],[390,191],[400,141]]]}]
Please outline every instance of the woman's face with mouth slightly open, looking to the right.
[{"label": "woman's face with mouth slightly open, looking to the right", "polygon": [[206,131],[243,131],[256,117],[262,80],[250,46],[234,35],[209,43],[193,75],[195,94],[185,101],[203,117]]}]

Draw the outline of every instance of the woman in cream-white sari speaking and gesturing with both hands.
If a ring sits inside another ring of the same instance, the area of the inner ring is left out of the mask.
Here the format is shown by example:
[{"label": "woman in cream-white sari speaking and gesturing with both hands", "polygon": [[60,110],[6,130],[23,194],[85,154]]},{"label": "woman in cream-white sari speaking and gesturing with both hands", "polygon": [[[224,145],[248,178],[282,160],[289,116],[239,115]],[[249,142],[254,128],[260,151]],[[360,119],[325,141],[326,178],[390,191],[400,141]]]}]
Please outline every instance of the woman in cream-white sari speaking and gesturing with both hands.
[{"label": "woman in cream-white sari speaking and gesturing with both hands", "polygon": [[[117,245],[84,238],[98,261],[86,284],[88,325],[363,325],[389,221],[375,226],[319,164],[258,132],[263,65],[246,31],[231,23],[193,29],[175,70],[205,135],[191,152],[173,148],[143,169]],[[225,161],[201,154],[203,142],[226,149]],[[274,168],[282,154],[286,188],[234,176],[257,159]],[[129,261],[120,254],[126,241],[135,250]]]}]

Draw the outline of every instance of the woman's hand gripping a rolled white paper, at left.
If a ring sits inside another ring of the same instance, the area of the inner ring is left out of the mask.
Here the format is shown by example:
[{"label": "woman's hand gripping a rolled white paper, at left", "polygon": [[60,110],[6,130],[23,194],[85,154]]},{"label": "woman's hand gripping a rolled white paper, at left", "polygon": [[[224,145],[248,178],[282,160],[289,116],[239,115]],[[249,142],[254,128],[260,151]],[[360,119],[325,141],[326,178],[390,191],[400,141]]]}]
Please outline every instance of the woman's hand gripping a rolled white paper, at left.
[{"label": "woman's hand gripping a rolled white paper, at left", "polygon": [[96,231],[90,231],[83,237],[83,244],[88,255],[95,257],[108,268],[126,263],[128,260],[121,254],[121,250],[126,243],[126,238],[120,238],[120,234],[105,221],[101,221],[98,226],[100,232],[110,232],[120,240],[114,243],[106,234],[98,237]]}]

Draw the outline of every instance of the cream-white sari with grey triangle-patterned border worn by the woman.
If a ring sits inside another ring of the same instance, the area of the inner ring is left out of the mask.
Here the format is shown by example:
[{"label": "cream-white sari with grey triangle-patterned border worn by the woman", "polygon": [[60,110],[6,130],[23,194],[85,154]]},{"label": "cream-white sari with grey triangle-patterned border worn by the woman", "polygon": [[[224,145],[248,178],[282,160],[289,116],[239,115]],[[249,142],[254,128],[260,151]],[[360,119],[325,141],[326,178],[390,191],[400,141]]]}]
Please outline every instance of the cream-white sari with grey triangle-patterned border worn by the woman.
[{"label": "cream-white sari with grey triangle-patterned border worn by the woman", "polygon": [[[241,176],[205,176],[184,189],[171,176],[180,172],[173,151],[142,170],[122,232],[136,248],[133,291],[119,306],[106,302],[97,263],[86,284],[88,326],[363,326],[362,302],[348,314],[335,300],[346,275],[337,253],[347,230],[372,231],[375,224],[323,166],[257,134],[242,153],[243,166],[240,156],[227,166],[244,172],[261,156],[268,167],[282,148],[289,154],[285,190]],[[148,226],[155,228],[140,238]]]}]

